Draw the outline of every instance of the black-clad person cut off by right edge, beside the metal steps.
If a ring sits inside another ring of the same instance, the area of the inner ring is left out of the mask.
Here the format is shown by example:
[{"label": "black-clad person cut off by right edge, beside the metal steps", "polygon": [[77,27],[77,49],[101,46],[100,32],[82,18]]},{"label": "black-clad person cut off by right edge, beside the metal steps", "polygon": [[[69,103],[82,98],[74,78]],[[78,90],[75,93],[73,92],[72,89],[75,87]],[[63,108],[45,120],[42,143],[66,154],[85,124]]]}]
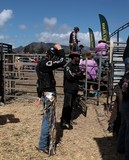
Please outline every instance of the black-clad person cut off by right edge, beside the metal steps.
[{"label": "black-clad person cut off by right edge, beside the metal steps", "polygon": [[124,61],[124,64],[125,64],[125,72],[128,69],[127,67],[127,64],[129,63],[129,36],[127,38],[127,41],[126,41],[126,47],[125,47],[125,50],[124,50],[124,53],[123,53],[123,61]]}]

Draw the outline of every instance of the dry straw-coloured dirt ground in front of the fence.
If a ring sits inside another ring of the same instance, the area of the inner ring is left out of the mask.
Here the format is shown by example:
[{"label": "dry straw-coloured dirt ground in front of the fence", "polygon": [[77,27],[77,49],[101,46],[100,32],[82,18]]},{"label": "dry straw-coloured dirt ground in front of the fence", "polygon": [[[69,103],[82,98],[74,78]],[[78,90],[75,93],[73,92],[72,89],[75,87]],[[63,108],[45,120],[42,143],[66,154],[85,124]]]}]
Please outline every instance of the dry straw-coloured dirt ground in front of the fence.
[{"label": "dry straw-coloured dirt ground in front of the fence", "polygon": [[[80,108],[74,110],[77,125],[72,130],[60,128],[63,95],[57,96],[56,154],[49,157],[35,149],[40,136],[42,105],[32,100],[13,100],[0,106],[0,159],[1,160],[119,160],[117,138],[107,131],[108,116],[104,111],[106,98],[87,100],[87,115]],[[122,160],[122,159],[121,159]]]}]

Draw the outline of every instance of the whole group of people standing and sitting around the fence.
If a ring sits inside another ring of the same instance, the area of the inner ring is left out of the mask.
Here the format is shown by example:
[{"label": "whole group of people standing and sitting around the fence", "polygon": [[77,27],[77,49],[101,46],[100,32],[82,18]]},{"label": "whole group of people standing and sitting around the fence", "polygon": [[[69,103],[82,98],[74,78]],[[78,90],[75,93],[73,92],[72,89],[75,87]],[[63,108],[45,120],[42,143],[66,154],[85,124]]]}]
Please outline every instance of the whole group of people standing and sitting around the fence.
[{"label": "whole group of people standing and sitting around the fence", "polygon": [[[35,99],[35,104],[39,105],[43,103],[43,119],[41,125],[41,134],[39,138],[39,144],[36,147],[41,152],[51,154],[55,151],[55,142],[51,135],[54,132],[56,136],[56,81],[53,71],[57,68],[63,67],[64,78],[64,103],[62,108],[62,115],[60,120],[60,127],[62,129],[72,129],[72,110],[76,106],[76,98],[79,91],[79,80],[84,79],[84,73],[87,71],[87,93],[91,87],[91,82],[97,81],[97,72],[99,65],[99,56],[107,56],[107,44],[101,40],[96,45],[95,54],[88,51],[85,57],[81,59],[83,45],[78,47],[79,40],[77,39],[78,27],[74,27],[74,30],[70,34],[70,61],[66,62],[65,52],[60,44],[55,44],[53,47],[46,51],[46,56],[38,62],[36,67],[37,72],[37,93],[38,97]],[[125,63],[125,74],[118,83],[121,89],[122,99],[119,103],[119,112],[121,116],[121,125],[118,133],[118,148],[119,153],[125,153],[125,160],[129,160],[129,37],[127,39],[127,47],[123,54],[123,60]],[[97,85],[94,84],[93,88],[97,90]],[[116,96],[116,102],[119,101],[119,97]],[[116,103],[117,105],[118,103]],[[115,114],[116,116],[116,114]],[[116,119],[116,117],[115,117]],[[109,121],[113,124],[113,120]],[[56,139],[56,138],[55,138]],[[53,141],[53,143],[52,143]]]}]

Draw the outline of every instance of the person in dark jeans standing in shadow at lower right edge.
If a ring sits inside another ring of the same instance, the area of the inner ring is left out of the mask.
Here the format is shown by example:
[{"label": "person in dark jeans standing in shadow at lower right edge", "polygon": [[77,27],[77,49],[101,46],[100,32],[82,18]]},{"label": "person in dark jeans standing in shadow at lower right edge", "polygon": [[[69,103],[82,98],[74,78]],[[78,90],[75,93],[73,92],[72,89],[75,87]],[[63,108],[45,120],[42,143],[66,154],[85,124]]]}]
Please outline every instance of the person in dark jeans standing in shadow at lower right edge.
[{"label": "person in dark jeans standing in shadow at lower right edge", "polygon": [[[127,64],[129,69],[129,63]],[[119,82],[122,89],[122,103],[120,105],[121,125],[118,134],[119,153],[125,154],[125,160],[129,160],[129,70],[125,72],[123,78]]]}]

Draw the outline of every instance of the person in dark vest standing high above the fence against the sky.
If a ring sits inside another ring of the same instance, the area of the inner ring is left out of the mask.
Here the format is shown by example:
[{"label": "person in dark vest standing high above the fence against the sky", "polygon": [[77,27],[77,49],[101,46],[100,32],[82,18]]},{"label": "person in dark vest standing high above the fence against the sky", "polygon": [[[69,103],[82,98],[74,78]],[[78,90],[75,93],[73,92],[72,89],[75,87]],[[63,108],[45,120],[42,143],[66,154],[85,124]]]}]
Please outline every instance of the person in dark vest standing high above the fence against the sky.
[{"label": "person in dark vest standing high above the fence against the sky", "polygon": [[78,32],[79,32],[79,28],[74,27],[74,30],[70,33],[70,37],[69,37],[70,53],[78,50],[78,42],[79,42],[79,40],[77,39]]}]

